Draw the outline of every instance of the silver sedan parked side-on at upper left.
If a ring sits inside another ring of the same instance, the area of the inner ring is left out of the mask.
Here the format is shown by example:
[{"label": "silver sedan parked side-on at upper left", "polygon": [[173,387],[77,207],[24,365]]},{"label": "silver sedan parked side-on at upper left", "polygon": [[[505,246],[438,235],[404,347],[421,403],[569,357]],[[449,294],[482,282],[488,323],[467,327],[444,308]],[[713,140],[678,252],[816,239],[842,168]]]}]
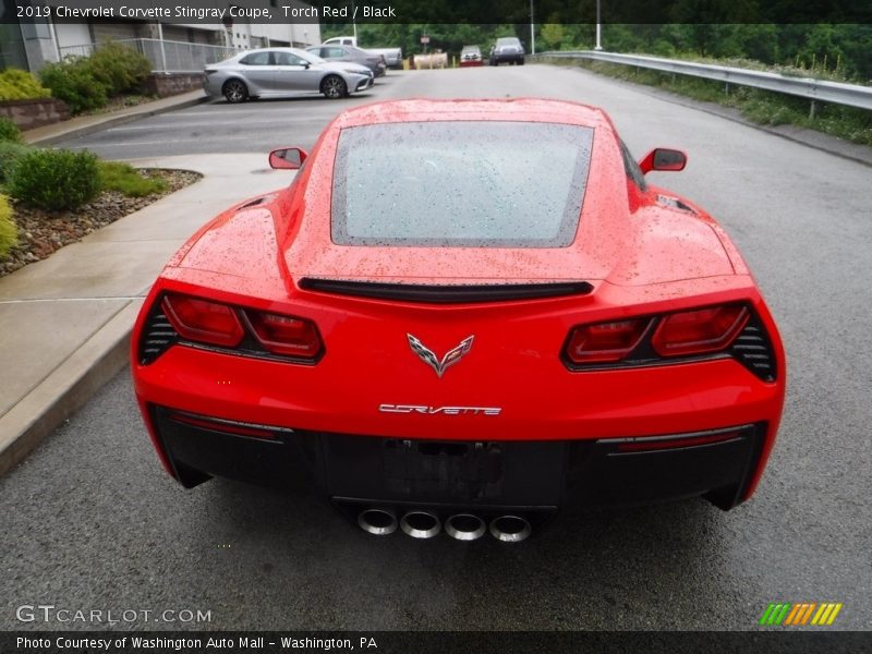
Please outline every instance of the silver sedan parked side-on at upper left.
[{"label": "silver sedan parked side-on at upper left", "polygon": [[362,65],[331,63],[298,48],[264,48],[209,64],[203,88],[228,102],[296,93],[323,93],[338,99],[366,90],[373,80],[372,71]]}]

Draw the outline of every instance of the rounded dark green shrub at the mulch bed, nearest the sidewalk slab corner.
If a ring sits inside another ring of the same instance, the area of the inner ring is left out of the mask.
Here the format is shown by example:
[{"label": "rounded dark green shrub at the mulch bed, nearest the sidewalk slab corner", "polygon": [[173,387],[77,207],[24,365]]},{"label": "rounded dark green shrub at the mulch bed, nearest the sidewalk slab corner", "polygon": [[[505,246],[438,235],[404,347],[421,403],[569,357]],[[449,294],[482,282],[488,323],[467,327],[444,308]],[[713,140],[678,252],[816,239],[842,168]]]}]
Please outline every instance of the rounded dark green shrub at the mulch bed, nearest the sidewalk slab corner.
[{"label": "rounded dark green shrub at the mulch bed, nearest the sidewalk slab corner", "polygon": [[75,209],[100,192],[97,156],[88,152],[34,149],[12,169],[10,194],[49,210]]}]

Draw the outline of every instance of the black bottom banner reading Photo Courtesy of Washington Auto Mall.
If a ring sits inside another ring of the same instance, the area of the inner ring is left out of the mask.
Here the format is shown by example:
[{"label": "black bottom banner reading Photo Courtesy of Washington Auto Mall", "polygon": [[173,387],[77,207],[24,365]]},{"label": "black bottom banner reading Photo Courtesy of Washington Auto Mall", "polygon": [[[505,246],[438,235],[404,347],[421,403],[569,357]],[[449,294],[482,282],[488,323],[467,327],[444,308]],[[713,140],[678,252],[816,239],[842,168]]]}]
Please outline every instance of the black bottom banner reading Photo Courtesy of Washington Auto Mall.
[{"label": "black bottom banner reading Photo Courtesy of Washington Auto Mall", "polygon": [[3,654],[204,654],[249,652],[378,652],[396,654],[513,654],[617,652],[623,654],[859,654],[872,651],[872,632],[773,629],[751,632],[511,632],[511,631],[47,631],[0,633]]}]

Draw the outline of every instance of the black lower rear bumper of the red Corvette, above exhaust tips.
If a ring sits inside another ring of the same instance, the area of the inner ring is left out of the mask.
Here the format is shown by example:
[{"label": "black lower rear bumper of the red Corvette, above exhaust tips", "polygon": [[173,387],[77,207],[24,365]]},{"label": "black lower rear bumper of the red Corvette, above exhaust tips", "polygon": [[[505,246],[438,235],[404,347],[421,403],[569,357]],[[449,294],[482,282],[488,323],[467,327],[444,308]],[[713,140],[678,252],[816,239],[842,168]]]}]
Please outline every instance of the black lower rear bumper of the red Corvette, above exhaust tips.
[{"label": "black lower rear bumper of the red Corvette, above exhaust tips", "polygon": [[156,445],[191,487],[210,476],[346,505],[476,512],[742,501],[767,423],[645,438],[432,440],[274,427],[149,405]]}]

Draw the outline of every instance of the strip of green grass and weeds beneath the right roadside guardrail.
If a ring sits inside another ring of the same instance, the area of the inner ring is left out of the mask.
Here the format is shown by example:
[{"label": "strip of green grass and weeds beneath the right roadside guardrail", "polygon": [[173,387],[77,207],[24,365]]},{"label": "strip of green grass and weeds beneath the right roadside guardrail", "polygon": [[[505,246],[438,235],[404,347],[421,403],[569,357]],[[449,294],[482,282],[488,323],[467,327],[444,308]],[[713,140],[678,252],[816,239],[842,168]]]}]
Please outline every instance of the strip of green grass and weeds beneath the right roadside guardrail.
[{"label": "strip of green grass and weeds beneath the right roadside guardrail", "polygon": [[[554,63],[564,61],[556,60]],[[799,125],[860,145],[872,146],[872,111],[818,102],[815,116],[812,118],[809,114],[809,100],[804,98],[748,86],[730,85],[727,88],[723,83],[711,80],[659,73],[601,61],[577,60],[572,65],[580,65],[610,77],[655,86],[694,100],[732,107],[738,109],[744,118],[758,124]]]}]

